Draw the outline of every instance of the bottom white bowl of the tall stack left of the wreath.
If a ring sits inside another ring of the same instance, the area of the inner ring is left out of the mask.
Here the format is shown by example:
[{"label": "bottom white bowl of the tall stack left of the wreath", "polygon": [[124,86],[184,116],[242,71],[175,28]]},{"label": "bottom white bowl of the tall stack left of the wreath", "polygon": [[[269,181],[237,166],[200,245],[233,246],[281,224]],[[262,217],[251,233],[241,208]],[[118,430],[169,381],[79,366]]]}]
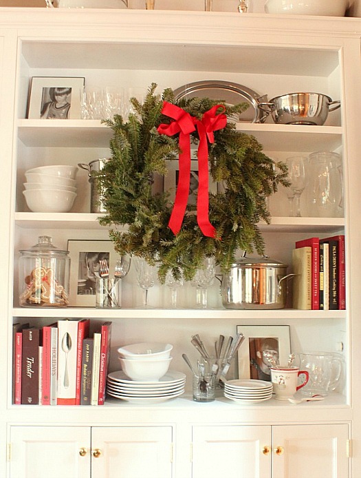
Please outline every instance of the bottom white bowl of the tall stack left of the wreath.
[{"label": "bottom white bowl of the tall stack left of the wreath", "polygon": [[23,195],[33,212],[68,212],[76,198],[76,193],[59,189],[29,189]]}]

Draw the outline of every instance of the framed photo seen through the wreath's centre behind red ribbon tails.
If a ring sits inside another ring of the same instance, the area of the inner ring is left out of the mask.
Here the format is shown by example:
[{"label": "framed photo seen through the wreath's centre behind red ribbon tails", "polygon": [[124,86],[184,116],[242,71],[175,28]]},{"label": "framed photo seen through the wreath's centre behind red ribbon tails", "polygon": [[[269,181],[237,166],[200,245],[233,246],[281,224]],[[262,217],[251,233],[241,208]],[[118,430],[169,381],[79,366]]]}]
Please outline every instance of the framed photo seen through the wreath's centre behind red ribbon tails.
[{"label": "framed photo seen through the wreath's centre behind red ribbon tails", "polygon": [[[166,161],[166,167],[168,174],[164,176],[164,191],[168,191],[171,202],[174,202],[175,192],[177,191],[177,185],[179,180],[179,161],[168,160]],[[198,192],[198,161],[190,161],[190,181],[189,181],[189,196],[188,204],[197,204],[197,192]],[[217,183],[212,180],[212,176],[208,176],[208,191],[212,194],[217,194]]]}]

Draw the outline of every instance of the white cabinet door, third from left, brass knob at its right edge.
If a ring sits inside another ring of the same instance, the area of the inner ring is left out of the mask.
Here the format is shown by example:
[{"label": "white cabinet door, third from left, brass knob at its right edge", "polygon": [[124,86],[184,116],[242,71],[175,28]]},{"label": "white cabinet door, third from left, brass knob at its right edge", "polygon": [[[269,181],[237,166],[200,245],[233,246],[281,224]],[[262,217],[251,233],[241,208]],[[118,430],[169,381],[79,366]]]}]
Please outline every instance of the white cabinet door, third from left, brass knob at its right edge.
[{"label": "white cabinet door, third from left, brass knob at its right edge", "polygon": [[270,478],[270,426],[194,426],[192,441],[192,478]]}]

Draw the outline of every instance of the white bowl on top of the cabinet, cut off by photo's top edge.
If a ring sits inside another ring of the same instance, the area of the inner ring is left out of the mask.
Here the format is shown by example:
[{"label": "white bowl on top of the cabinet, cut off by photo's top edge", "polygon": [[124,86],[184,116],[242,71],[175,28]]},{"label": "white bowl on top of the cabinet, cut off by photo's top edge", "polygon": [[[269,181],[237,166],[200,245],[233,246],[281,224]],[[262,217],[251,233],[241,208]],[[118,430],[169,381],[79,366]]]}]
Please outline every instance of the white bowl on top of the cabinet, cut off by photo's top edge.
[{"label": "white bowl on top of the cabinet, cut off by photo's top edge", "polygon": [[349,0],[267,0],[266,13],[344,17]]}]

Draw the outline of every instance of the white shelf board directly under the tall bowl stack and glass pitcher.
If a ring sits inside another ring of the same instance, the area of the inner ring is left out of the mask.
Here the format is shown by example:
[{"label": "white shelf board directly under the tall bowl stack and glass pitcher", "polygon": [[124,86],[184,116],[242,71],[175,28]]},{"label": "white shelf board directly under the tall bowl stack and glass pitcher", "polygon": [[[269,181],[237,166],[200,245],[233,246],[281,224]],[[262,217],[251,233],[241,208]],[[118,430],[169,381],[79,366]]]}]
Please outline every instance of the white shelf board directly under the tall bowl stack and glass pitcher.
[{"label": "white shelf board directly under the tall bowl stack and glass pitcher", "polygon": [[[98,218],[104,214],[17,212],[15,224],[24,229],[105,229]],[[344,227],[343,218],[288,218],[272,217],[270,225],[260,223],[267,232],[331,232]]]}]

